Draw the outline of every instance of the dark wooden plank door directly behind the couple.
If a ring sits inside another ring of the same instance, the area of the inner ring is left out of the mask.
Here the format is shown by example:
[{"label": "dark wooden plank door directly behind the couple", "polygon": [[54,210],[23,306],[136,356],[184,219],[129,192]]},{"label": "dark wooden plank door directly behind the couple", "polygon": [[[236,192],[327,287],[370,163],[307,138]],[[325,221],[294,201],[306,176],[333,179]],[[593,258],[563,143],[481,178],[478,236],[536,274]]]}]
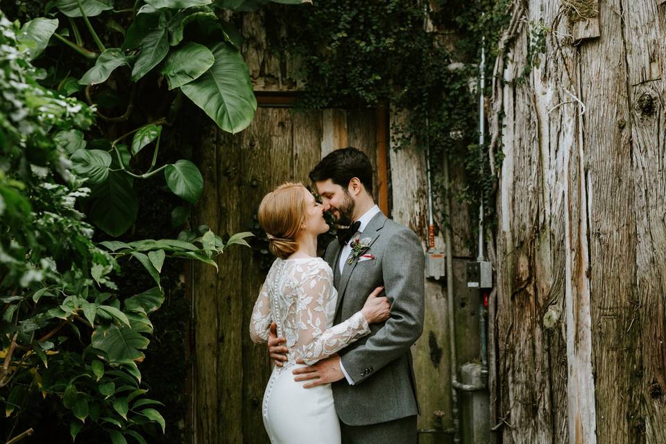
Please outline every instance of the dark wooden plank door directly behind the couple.
[{"label": "dark wooden plank door directly behind the couple", "polygon": [[[357,146],[368,154],[375,171],[386,171],[386,151],[380,149],[377,155],[378,142],[382,145],[377,115],[367,108],[259,108],[253,123],[237,135],[211,126],[199,144],[197,163],[205,189],[196,223],[221,236],[250,230],[268,191],[285,181],[309,185],[310,169],[335,148]],[[379,123],[381,133],[385,126]],[[385,179],[378,184],[375,177],[374,182],[375,199],[388,214]],[[253,344],[248,334],[265,271],[249,248],[234,246],[217,262],[219,273],[210,266],[193,267],[194,441],[268,443],[261,414],[268,354],[266,346]]]}]

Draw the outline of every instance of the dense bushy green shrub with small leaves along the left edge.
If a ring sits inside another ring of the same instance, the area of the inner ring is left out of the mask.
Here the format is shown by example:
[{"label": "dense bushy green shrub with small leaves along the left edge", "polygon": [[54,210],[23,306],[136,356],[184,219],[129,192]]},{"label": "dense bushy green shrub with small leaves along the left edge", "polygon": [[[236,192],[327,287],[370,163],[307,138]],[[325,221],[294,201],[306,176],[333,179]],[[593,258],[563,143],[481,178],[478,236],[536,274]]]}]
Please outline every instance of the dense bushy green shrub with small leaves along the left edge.
[{"label": "dense bushy green shrub with small leaves along the left edge", "polygon": [[[85,5],[94,12],[93,3]],[[0,402],[12,423],[6,440],[21,432],[19,424],[39,427],[31,413],[50,405],[69,424],[72,441],[104,433],[112,443],[145,443],[148,425],[165,427],[161,403],[146,396],[138,365],[153,334],[149,315],[164,302],[164,262],[215,265],[216,255],[245,244],[249,234],[226,243],[207,228],[184,231],[180,239],[93,241],[82,200],[97,196],[91,214],[103,212],[95,205],[120,205],[100,203],[99,196],[115,196],[105,187],[128,180],[112,168],[123,160],[83,139],[94,123],[92,108],[38,83],[30,62],[38,46],[26,44],[25,30],[0,13]],[[138,136],[137,146],[159,140],[152,129]],[[180,171],[174,187],[179,193],[185,187],[182,194],[194,200],[190,176]],[[154,284],[126,298],[114,278],[135,265]]]}]

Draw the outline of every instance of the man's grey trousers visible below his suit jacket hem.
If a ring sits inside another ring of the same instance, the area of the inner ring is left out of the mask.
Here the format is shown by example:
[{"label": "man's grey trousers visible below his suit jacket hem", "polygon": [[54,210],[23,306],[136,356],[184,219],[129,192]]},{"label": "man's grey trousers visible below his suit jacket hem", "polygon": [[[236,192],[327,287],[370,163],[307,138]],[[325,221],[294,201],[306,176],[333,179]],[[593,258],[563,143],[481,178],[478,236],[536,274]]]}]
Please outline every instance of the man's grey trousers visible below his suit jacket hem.
[{"label": "man's grey trousers visible below his suit jacket hem", "polygon": [[416,415],[370,425],[340,421],[342,444],[416,444]]}]

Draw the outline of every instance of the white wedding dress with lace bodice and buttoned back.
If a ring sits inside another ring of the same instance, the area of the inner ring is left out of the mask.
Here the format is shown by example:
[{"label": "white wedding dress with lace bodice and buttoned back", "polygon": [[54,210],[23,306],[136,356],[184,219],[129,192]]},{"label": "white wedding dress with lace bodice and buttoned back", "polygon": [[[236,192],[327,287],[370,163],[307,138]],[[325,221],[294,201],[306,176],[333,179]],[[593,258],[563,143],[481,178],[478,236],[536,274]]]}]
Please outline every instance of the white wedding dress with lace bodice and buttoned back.
[{"label": "white wedding dress with lace bodice and buttoned back", "polygon": [[[370,333],[361,311],[333,325],[337,292],[333,272],[323,259],[275,259],[255,303],[250,336],[266,342],[273,321],[287,339],[289,361],[273,368],[264,391],[262,414],[273,444],[340,444],[340,425],[331,384],[303,388],[293,380],[294,368],[333,355]],[[311,381],[310,381],[311,382]]]}]

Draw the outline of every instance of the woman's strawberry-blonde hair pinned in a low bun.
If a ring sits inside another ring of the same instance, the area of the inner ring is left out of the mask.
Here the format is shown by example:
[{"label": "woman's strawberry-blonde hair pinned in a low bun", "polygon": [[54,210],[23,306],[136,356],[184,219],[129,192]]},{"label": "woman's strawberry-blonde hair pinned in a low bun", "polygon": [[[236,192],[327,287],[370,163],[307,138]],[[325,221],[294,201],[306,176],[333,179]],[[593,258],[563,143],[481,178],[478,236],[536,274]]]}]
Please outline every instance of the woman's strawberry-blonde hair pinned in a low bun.
[{"label": "woman's strawberry-blonde hair pinned in a low bun", "polygon": [[281,259],[298,250],[296,234],[307,210],[303,191],[307,189],[300,183],[284,182],[259,204],[259,225],[268,234],[268,249]]}]

